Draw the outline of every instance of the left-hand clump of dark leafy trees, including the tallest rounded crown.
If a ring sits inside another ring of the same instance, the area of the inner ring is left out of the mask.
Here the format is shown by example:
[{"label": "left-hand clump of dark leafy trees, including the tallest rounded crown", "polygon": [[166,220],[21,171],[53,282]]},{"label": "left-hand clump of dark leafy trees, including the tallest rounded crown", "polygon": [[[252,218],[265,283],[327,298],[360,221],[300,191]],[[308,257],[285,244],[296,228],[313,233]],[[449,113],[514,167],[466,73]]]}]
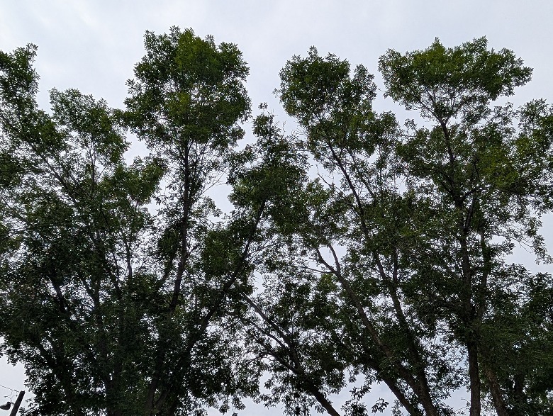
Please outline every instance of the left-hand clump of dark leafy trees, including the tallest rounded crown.
[{"label": "left-hand clump of dark leafy trees, including the tallest rounded crown", "polygon": [[[215,274],[205,194],[243,135],[248,70],[191,30],[145,47],[125,111],[76,90],[40,111],[35,47],[0,55],[2,348],[26,364],[30,414],[188,415],[257,389],[227,319],[255,221]],[[132,164],[123,125],[150,149]]]}]

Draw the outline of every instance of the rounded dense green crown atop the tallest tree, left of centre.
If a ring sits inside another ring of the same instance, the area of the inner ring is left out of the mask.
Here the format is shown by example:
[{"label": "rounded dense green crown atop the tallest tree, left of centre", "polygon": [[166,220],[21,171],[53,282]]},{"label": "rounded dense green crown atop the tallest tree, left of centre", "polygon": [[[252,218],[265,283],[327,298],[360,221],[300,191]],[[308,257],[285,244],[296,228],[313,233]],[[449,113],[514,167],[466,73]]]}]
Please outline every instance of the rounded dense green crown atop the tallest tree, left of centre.
[{"label": "rounded dense green crown atop the tallest tree, left of centre", "polygon": [[152,149],[195,140],[224,150],[242,137],[235,123],[249,116],[249,71],[235,45],[173,27],[166,35],[147,32],[145,48],[125,101],[125,120],[139,138]]}]

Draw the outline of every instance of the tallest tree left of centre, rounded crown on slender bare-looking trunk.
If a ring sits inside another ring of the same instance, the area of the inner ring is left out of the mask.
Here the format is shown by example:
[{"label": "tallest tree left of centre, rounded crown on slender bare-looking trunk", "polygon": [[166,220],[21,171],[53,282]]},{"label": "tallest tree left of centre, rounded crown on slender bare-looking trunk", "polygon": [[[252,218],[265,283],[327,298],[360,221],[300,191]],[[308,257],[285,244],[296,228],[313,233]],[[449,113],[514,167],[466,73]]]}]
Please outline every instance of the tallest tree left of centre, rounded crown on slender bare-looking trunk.
[{"label": "tallest tree left of centre, rounded crown on slender bare-looking trunk", "polygon": [[[145,47],[147,55],[129,81],[125,120],[167,169],[152,264],[169,296],[152,349],[146,406],[153,411],[175,386],[209,397],[211,388],[221,386],[218,378],[228,378],[228,365],[213,357],[233,343],[209,328],[224,314],[226,295],[240,274],[212,279],[201,268],[201,252],[210,216],[217,214],[206,190],[225,172],[223,160],[244,133],[238,122],[247,118],[250,101],[244,86],[248,69],[235,45],[217,46],[213,38],[172,28],[167,35],[147,33]],[[235,244],[240,247],[240,240]],[[245,266],[245,258],[238,266]],[[169,408],[179,405],[181,394],[167,398]]]}]

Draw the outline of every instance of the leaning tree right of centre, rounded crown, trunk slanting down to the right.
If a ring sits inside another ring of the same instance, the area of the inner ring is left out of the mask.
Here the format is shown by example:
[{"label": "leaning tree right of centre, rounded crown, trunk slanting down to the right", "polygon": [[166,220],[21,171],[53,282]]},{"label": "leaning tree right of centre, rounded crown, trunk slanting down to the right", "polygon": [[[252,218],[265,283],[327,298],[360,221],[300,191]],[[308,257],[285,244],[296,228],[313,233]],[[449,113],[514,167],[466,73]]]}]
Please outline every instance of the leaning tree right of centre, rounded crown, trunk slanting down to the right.
[{"label": "leaning tree right of centre, rounded crown, trunk slanting down to the right", "polygon": [[[303,249],[342,299],[341,322],[350,366],[370,384],[383,381],[410,414],[447,411],[442,398],[454,371],[425,345],[435,335],[402,303],[402,250],[418,201],[398,188],[398,126],[372,111],[376,86],[367,69],[333,55],[294,57],[281,71],[281,101],[305,131],[303,147],[319,166],[323,201],[309,206]],[[345,255],[340,259],[340,252]],[[420,407],[422,410],[419,410]]]}]

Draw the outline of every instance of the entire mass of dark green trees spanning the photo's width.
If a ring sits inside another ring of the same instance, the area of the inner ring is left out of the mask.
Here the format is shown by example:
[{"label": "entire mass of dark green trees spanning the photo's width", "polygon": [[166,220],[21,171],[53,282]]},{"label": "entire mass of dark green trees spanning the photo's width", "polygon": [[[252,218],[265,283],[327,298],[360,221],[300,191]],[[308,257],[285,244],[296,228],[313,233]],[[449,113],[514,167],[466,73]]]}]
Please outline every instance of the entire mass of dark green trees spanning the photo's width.
[{"label": "entire mass of dark green trees spanning the photo's width", "polygon": [[0,52],[0,352],[26,414],[445,416],[467,389],[470,416],[553,415],[553,279],[508,262],[550,260],[553,110],[496,103],[530,80],[513,52],[386,52],[402,127],[312,47],[277,89],[298,132],[262,105],[238,146],[238,48],[172,28],[145,50],[125,108],[71,89],[48,112],[36,48]]}]

